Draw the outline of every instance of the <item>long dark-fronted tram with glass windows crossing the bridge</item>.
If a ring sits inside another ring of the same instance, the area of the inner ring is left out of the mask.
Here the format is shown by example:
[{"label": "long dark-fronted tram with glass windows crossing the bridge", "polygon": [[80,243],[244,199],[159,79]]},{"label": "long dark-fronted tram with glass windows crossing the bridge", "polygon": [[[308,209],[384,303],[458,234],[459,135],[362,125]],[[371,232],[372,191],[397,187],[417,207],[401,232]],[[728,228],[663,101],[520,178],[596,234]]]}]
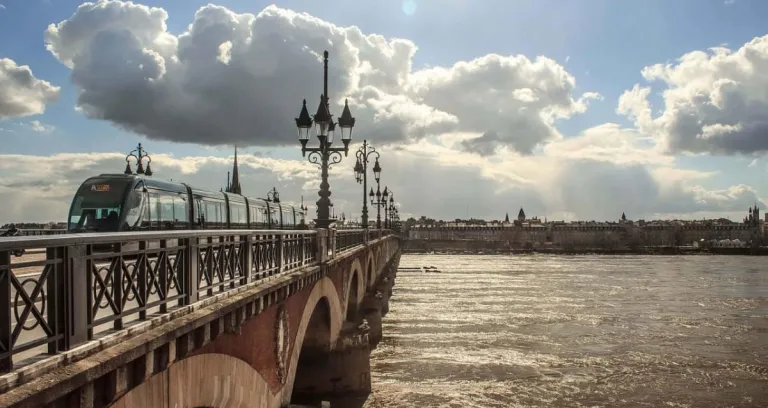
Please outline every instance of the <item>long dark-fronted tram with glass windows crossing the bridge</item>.
[{"label": "long dark-fronted tram with glass windows crossing the bridge", "polygon": [[102,174],[77,189],[67,232],[297,229],[304,215],[299,208],[262,198],[141,175]]}]

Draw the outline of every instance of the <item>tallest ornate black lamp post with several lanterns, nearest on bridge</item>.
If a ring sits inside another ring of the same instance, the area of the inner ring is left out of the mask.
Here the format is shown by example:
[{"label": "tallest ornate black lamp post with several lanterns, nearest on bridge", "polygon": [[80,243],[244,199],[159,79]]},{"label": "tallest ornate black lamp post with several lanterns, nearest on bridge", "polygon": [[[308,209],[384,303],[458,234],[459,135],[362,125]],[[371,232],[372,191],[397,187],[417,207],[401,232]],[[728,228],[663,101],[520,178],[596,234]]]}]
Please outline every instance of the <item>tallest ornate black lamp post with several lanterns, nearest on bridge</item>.
[{"label": "tallest ornate black lamp post with several lanterns, nearest on bridge", "polygon": [[330,219],[330,196],[331,186],[328,184],[328,168],[330,165],[341,162],[341,152],[344,156],[349,153],[349,142],[352,140],[352,127],[355,126],[355,118],[349,112],[349,105],[344,101],[344,111],[341,113],[338,125],[341,128],[341,141],[344,147],[332,147],[333,132],[336,129],[336,123],[333,122],[328,102],[328,51],[323,52],[323,94],[320,95],[320,104],[317,106],[317,113],[314,115],[315,132],[320,145],[318,147],[307,147],[309,141],[309,132],[312,129],[313,119],[307,111],[307,100],[301,107],[299,117],[296,118],[296,127],[299,129],[299,142],[301,142],[301,155],[307,158],[310,163],[317,164],[320,167],[320,190],[317,195],[317,219],[315,226],[317,228],[328,228],[331,224]]}]

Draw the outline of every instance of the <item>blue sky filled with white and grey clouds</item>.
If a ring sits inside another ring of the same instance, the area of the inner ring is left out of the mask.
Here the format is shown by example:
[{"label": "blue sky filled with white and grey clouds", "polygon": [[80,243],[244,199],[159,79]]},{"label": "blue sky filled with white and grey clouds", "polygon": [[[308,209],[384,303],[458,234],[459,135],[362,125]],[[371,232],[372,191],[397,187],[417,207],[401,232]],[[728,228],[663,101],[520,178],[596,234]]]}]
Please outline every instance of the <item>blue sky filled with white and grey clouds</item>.
[{"label": "blue sky filled with white and grey clouds", "polygon": [[324,50],[331,111],[356,118],[330,172],[348,219],[365,139],[401,217],[741,220],[768,203],[766,15],[762,0],[0,0],[0,223],[64,221],[137,143],[153,177],[212,190],[236,145],[246,195],[275,186],[314,212],[293,119],[316,110]]}]

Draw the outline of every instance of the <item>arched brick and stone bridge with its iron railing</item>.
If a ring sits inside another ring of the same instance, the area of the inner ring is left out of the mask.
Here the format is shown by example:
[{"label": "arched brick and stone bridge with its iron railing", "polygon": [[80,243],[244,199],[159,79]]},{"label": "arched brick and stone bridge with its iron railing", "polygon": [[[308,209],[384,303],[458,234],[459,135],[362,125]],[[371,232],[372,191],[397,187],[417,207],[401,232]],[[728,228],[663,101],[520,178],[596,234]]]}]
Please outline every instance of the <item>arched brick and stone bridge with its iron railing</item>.
[{"label": "arched brick and stone bridge with its iron railing", "polygon": [[399,251],[386,230],[0,238],[0,406],[367,396]]}]

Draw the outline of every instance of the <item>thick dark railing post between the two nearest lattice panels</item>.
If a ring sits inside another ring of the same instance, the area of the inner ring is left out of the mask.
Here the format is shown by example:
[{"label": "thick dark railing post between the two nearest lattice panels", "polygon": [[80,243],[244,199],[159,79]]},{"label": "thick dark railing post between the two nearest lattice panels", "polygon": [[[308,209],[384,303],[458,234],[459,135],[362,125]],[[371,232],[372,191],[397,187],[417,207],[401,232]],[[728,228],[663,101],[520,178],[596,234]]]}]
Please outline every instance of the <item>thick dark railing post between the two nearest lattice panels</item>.
[{"label": "thick dark railing post between the two nearest lattice panels", "polygon": [[[64,255],[64,254],[62,254]],[[93,298],[93,278],[89,269],[88,246],[86,244],[71,245],[66,248],[66,263],[63,265],[63,285],[57,289],[62,293],[60,302],[51,303],[49,307],[62,307],[64,314],[64,344],[65,349],[85,343],[90,339],[91,304]],[[48,292],[50,293],[50,291]]]}]

